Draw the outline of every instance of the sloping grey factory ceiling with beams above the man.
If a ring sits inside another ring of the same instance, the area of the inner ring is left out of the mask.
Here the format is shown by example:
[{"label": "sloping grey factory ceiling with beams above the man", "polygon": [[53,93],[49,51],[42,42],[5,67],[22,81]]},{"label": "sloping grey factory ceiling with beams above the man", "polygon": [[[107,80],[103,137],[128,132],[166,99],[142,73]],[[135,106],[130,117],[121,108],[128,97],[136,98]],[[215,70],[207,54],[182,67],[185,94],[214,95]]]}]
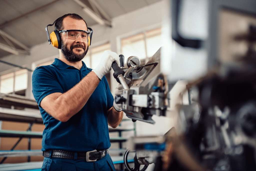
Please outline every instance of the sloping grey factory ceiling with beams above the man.
[{"label": "sloping grey factory ceiling with beams above the man", "polygon": [[[29,54],[30,47],[46,42],[45,27],[58,17],[77,13],[88,27],[111,27],[114,17],[161,0],[1,0],[0,59],[9,54]],[[54,27],[48,27],[49,33]]]}]

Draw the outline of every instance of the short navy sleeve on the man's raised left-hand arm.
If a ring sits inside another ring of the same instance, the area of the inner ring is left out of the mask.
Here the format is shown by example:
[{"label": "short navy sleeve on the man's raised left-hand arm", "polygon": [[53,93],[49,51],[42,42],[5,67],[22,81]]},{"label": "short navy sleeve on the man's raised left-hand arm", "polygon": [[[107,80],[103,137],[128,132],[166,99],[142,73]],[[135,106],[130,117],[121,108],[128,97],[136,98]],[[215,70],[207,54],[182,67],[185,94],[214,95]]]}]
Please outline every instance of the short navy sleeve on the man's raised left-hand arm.
[{"label": "short navy sleeve on the man's raised left-hand arm", "polygon": [[38,67],[32,74],[32,93],[40,106],[41,100],[51,93],[63,93],[54,72],[47,66]]}]

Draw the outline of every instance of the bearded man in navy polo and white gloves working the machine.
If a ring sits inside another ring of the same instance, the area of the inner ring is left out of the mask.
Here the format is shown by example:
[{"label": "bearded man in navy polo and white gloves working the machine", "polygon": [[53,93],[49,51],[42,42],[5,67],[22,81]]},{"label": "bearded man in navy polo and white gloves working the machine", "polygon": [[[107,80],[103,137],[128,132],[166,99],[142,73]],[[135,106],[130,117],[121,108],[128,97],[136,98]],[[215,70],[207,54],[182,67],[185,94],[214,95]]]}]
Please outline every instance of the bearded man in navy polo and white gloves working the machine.
[{"label": "bearded man in navy polo and white gloves working the machine", "polygon": [[63,30],[59,59],[36,68],[32,76],[33,94],[45,124],[42,170],[113,171],[107,154],[108,125],[117,127],[123,111],[115,104],[104,75],[119,56],[105,51],[91,70],[81,61],[88,50],[82,17],[66,14],[56,21],[55,29]]}]

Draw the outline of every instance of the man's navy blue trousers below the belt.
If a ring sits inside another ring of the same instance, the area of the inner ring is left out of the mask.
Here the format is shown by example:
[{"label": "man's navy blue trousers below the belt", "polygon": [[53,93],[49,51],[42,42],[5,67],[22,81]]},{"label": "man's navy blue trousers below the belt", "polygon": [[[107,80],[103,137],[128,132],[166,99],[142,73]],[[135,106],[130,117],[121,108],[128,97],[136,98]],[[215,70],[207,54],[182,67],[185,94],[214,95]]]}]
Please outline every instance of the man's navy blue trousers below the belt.
[{"label": "man's navy blue trousers below the belt", "polygon": [[66,158],[45,157],[41,171],[116,171],[109,154],[96,162]]}]

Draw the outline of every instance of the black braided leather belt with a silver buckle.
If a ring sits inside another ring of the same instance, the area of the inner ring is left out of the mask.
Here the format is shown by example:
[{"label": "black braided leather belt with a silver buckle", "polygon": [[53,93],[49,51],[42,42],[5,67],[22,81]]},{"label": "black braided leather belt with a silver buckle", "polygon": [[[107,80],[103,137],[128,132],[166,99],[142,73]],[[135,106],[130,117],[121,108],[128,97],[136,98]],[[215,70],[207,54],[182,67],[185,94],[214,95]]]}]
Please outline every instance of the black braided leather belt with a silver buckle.
[{"label": "black braided leather belt with a silver buckle", "polygon": [[[49,151],[44,151],[43,156],[50,157],[50,153],[51,153],[51,157],[68,158],[68,159],[75,159],[75,155],[76,155],[75,152],[68,152],[63,150],[49,150]],[[109,153],[109,149],[105,149],[103,151],[93,150],[85,153],[78,152],[76,158],[78,160],[86,160],[87,162],[95,162],[97,160],[100,160],[102,157],[105,157],[106,154],[108,153]]]}]

